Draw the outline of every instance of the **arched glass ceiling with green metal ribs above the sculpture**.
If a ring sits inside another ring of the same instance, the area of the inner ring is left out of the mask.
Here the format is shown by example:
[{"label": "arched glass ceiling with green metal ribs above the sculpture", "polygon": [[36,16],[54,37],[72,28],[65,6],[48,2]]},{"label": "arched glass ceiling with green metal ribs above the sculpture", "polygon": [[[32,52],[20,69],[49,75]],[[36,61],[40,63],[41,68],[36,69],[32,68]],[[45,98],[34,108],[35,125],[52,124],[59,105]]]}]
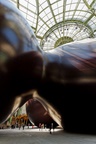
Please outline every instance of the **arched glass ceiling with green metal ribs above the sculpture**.
[{"label": "arched glass ceiling with green metal ribs above the sculpture", "polygon": [[21,11],[43,50],[96,37],[96,0],[10,0]]}]

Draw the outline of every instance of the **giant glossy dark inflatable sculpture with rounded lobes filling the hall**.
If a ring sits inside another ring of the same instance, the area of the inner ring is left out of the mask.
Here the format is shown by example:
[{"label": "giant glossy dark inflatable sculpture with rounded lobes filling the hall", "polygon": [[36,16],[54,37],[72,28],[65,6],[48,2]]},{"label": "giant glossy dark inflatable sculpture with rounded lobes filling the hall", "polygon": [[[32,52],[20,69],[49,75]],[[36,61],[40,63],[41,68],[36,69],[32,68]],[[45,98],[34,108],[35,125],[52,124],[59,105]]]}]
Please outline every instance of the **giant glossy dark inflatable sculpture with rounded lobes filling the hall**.
[{"label": "giant glossy dark inflatable sculpture with rounded lobes filling the hall", "polygon": [[96,134],[95,96],[96,38],[44,52],[19,10],[0,1],[0,123],[33,98],[65,131]]}]

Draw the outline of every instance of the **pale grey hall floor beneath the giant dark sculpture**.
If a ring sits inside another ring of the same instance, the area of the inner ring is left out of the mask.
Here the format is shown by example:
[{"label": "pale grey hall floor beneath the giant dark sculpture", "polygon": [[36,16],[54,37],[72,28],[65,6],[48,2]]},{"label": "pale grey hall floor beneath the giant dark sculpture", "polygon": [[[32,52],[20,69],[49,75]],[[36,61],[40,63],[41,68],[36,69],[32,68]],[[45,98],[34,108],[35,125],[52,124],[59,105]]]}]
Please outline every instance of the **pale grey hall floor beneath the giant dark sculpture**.
[{"label": "pale grey hall floor beneath the giant dark sculpture", "polygon": [[52,134],[48,129],[0,129],[0,144],[96,144],[96,136],[68,134],[61,129]]}]

